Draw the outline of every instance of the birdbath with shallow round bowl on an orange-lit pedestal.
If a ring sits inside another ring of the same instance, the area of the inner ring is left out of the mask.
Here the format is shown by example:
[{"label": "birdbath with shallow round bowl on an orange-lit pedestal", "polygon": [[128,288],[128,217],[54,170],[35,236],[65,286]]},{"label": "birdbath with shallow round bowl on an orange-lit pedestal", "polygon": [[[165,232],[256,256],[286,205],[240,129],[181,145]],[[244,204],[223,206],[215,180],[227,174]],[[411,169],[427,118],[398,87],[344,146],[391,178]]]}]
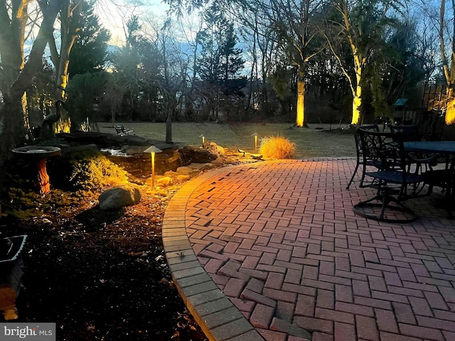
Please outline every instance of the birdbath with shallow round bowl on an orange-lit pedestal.
[{"label": "birdbath with shallow round bowl on an orange-lit pedestal", "polygon": [[61,149],[52,146],[23,146],[11,150],[17,156],[21,156],[28,161],[36,162],[38,176],[36,178],[36,191],[40,194],[47,194],[50,192],[50,183],[48,171],[45,167],[45,162],[48,158],[58,156]]}]

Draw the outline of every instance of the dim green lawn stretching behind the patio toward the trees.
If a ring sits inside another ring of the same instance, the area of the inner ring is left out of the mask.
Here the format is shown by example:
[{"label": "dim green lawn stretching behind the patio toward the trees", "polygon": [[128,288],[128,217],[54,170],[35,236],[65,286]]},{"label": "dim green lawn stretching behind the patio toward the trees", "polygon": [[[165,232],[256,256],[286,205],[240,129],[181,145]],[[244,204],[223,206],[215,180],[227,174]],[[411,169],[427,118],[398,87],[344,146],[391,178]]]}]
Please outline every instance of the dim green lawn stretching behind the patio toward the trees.
[{"label": "dim green lawn stretching behind the patio toward the trees", "polygon": [[[166,124],[149,122],[122,123],[128,129],[134,129],[138,136],[146,139],[166,138]],[[111,123],[98,124],[101,132],[115,134]],[[297,146],[296,158],[313,157],[341,157],[355,156],[355,143],[352,134],[336,131],[321,131],[316,128],[329,129],[328,125],[310,124],[309,129],[295,128],[292,124],[259,124],[259,123],[181,123],[172,124],[173,142],[178,146],[200,146],[204,135],[205,141],[213,141],[218,146],[230,150],[242,149],[249,153],[255,150],[255,137],[257,133],[257,146],[262,138],[281,136],[294,142]],[[338,126],[331,126],[331,129]]]}]

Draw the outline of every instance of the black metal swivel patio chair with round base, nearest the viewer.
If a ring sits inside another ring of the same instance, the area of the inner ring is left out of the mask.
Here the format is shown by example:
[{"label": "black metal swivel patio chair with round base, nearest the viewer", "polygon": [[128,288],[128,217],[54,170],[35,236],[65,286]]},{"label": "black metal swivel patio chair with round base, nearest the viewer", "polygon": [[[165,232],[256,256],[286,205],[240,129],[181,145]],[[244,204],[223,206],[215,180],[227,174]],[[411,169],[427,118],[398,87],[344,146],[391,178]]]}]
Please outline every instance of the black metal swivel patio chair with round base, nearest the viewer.
[{"label": "black metal swivel patio chair with round base, nearest the viewer", "polygon": [[[376,188],[377,193],[354,205],[355,214],[381,222],[413,222],[417,216],[402,201],[421,196],[417,188],[424,187],[426,176],[409,172],[402,134],[363,129],[358,129],[358,134],[364,162],[370,159],[378,171],[365,172],[371,178],[367,186]],[[432,186],[425,195],[431,190]]]}]

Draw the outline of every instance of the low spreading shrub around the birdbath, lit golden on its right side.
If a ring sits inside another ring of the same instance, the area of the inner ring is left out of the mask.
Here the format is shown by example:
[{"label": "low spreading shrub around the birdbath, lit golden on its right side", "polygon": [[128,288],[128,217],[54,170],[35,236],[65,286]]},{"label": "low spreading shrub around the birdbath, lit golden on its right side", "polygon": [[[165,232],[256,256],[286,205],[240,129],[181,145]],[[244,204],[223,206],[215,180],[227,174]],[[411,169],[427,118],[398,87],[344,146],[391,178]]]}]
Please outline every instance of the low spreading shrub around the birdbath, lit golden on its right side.
[{"label": "low spreading shrub around the birdbath, lit golden on its right side", "polygon": [[1,216],[27,219],[48,210],[77,205],[80,197],[96,197],[105,188],[127,183],[127,172],[99,151],[65,151],[48,161],[53,190],[47,195],[35,192],[36,166],[18,160],[9,163],[8,188],[0,188]]}]

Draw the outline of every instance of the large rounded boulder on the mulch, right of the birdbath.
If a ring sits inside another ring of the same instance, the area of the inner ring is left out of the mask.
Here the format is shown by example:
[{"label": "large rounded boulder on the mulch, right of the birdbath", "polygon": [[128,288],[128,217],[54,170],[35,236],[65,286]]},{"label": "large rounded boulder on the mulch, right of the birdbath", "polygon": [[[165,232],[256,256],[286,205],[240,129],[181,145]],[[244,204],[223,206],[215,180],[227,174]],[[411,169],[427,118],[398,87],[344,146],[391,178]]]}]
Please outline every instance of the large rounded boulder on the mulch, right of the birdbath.
[{"label": "large rounded boulder on the mulch, right of the birdbath", "polygon": [[119,185],[105,192],[98,197],[100,210],[118,210],[124,206],[132,206],[141,200],[141,192],[134,185]]}]

